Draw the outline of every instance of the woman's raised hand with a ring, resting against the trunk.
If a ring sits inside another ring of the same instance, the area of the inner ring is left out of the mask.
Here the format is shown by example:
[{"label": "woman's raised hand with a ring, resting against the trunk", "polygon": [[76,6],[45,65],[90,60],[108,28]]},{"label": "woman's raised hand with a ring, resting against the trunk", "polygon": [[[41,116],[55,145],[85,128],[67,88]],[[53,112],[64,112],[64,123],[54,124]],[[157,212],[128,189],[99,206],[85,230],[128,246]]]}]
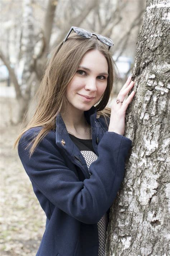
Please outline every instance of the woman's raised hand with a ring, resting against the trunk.
[{"label": "woman's raised hand with a ring, resting against the trunk", "polygon": [[124,135],[126,109],[129,103],[132,101],[135,92],[132,91],[126,100],[124,100],[124,98],[133,86],[134,82],[131,81],[131,76],[129,76],[117,96],[119,103],[114,102],[112,105],[108,131],[114,131],[115,133]]}]

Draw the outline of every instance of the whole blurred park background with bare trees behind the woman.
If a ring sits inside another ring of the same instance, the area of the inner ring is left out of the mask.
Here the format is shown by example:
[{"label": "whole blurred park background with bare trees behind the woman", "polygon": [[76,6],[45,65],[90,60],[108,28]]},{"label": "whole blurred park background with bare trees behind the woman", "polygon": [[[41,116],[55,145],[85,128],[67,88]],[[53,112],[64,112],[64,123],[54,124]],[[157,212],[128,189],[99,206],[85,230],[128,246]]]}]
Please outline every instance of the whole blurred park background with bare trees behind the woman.
[{"label": "whole blurred park background with bare trees behind the woman", "polygon": [[[146,0],[1,0],[1,255],[36,255],[46,217],[13,149],[48,53],[71,26],[113,40],[114,95],[131,75]],[[112,104],[110,99],[109,104]]]}]

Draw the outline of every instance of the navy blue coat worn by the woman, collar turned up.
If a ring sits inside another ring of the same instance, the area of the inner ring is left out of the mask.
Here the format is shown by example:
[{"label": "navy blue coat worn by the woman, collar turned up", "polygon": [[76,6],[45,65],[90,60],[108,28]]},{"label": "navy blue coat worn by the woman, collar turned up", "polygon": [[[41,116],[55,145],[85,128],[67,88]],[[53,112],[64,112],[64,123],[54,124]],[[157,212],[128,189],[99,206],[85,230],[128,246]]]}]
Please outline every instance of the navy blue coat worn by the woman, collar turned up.
[{"label": "navy blue coat worn by the woman, collar turned up", "polygon": [[42,127],[29,129],[18,144],[20,160],[47,216],[37,256],[98,256],[97,223],[117,195],[132,141],[108,132],[94,106],[84,113],[98,156],[89,170],[60,114],[57,129],[49,131],[30,158],[24,148]]}]

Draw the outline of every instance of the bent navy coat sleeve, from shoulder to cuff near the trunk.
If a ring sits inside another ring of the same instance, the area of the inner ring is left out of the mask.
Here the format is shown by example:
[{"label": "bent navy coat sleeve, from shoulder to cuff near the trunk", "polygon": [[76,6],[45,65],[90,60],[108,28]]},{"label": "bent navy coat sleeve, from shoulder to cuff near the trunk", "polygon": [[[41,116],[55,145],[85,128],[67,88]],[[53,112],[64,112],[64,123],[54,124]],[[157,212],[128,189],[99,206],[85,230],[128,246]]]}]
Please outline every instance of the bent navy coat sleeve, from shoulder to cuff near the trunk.
[{"label": "bent navy coat sleeve, from shoulder to cuff near the trunk", "polygon": [[65,165],[50,135],[44,137],[29,158],[25,147],[31,138],[33,136],[29,131],[22,136],[18,153],[32,183],[53,205],[68,215],[83,223],[97,223],[112,205],[121,185],[131,140],[106,131],[98,145],[98,159],[89,167],[90,178],[79,181]]}]

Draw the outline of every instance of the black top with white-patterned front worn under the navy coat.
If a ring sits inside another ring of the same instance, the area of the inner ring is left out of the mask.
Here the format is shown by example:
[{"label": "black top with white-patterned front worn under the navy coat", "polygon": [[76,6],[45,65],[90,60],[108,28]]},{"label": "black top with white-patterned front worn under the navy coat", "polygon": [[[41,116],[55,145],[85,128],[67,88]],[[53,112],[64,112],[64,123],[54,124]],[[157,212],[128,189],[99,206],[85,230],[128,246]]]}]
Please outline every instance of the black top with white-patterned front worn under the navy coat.
[{"label": "black top with white-patterned front worn under the navy coat", "polygon": [[[72,141],[76,144],[77,148],[80,149],[82,156],[84,157],[86,164],[91,165],[94,161],[97,160],[98,156],[95,154],[92,139],[79,139],[72,134],[69,134]],[[105,256],[105,242],[106,242],[106,233],[108,226],[108,217],[105,213],[103,217],[98,221],[98,236],[99,236],[99,249],[98,256]]]}]

